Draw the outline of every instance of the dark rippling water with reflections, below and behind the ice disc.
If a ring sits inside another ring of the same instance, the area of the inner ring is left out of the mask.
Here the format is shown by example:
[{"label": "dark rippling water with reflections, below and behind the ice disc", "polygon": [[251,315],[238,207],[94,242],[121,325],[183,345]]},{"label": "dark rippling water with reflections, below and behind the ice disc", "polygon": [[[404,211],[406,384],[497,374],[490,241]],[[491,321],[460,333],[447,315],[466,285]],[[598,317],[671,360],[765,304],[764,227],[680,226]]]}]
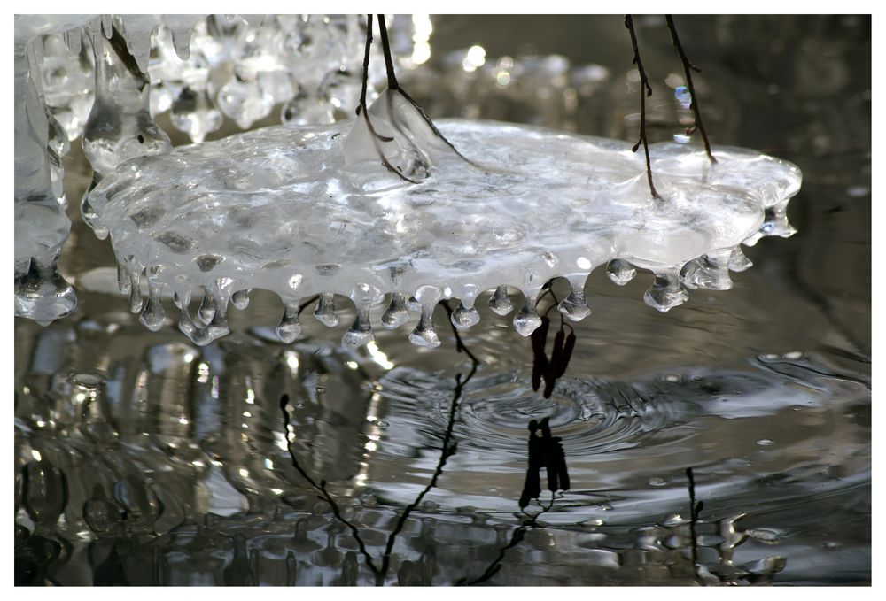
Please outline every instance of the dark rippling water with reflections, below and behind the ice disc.
[{"label": "dark rippling water with reflections, below and behind the ice disc", "polygon": [[[664,140],[680,130],[665,83],[680,63],[664,19],[637,22]],[[401,78],[433,116],[636,135],[621,19],[433,24],[429,64]],[[61,269],[78,308],[15,324],[17,570],[62,584],[870,582],[870,19],[677,24],[713,143],[803,171],[799,232],[747,249],[734,289],[666,314],[642,302],[650,274],[619,288],[598,270],[548,399],[530,342],[483,302],[462,335],[476,369],[443,311],[434,351],[402,328],[342,351],[309,318],[283,345],[260,293],[204,348],[151,333],[122,297],[87,289],[115,264],[72,202]],[[475,43],[524,71],[502,89],[453,67]],[[89,168],[79,150],[65,160],[79,199]],[[545,417],[571,486],[521,512],[527,426]]]}]

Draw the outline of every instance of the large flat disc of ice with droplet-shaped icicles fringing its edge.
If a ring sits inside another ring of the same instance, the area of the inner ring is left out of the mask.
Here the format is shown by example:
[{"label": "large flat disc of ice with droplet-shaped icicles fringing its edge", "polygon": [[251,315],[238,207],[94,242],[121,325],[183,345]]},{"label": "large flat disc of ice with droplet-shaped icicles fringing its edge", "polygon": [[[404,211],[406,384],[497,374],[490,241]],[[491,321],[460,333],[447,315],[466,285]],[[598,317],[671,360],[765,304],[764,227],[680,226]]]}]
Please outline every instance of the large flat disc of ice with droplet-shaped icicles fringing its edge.
[{"label": "large flat disc of ice with droplet-shaped icicles fringing its edge", "polygon": [[[703,151],[654,145],[663,196],[655,200],[628,143],[441,120],[439,130],[474,163],[401,96],[386,92],[369,114],[380,139],[363,119],[268,127],[135,158],[105,177],[89,204],[97,233],[111,232],[121,289],[144,324],[162,326],[160,294],[169,286],[183,332],[210,343],[229,331],[229,301],[242,307],[247,291],[260,288],[283,300],[278,335],[290,342],[300,332],[300,299],[321,295],[316,315],[334,325],[339,294],[357,307],[343,339],[356,345],[371,339],[369,309],[390,294],[383,325],[420,310],[410,339],[435,346],[431,312],[441,298],[459,298],[453,323],[470,327],[486,289],[496,289],[494,310],[509,312],[501,288],[509,285],[525,296],[514,324],[529,335],[551,278],[571,282],[559,308],[579,320],[589,313],[583,286],[595,267],[608,265],[617,283],[633,277],[633,266],[649,269],[656,278],[646,302],[667,311],[687,298],[681,281],[729,288],[729,269],[749,266],[742,242],[791,233],[781,220],[799,170],[758,152],[721,148],[711,164]],[[418,183],[385,170],[378,151]],[[206,301],[192,318],[190,297],[200,288]]]}]

